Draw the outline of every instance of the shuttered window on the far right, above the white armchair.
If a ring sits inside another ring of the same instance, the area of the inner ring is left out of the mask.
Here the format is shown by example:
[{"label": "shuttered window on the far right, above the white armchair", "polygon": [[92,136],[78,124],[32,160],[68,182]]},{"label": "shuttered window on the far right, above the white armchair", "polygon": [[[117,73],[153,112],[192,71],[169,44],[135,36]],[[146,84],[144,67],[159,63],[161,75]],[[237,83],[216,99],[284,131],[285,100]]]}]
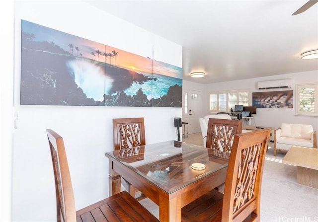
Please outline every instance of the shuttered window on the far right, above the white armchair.
[{"label": "shuttered window on the far right, above the white armchair", "polygon": [[318,116],[318,83],[296,85],[296,115]]}]

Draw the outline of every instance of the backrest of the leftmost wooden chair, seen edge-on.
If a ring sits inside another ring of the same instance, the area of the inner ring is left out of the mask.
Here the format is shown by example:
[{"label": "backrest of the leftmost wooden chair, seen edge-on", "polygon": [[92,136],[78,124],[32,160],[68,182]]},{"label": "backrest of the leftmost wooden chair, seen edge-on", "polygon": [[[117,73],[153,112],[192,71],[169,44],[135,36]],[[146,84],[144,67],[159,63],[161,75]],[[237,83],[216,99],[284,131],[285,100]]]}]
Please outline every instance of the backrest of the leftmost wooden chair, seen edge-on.
[{"label": "backrest of the leftmost wooden chair, seen edge-on", "polygon": [[74,193],[63,138],[51,129],[46,130],[46,133],[54,169],[57,221],[75,222]]}]

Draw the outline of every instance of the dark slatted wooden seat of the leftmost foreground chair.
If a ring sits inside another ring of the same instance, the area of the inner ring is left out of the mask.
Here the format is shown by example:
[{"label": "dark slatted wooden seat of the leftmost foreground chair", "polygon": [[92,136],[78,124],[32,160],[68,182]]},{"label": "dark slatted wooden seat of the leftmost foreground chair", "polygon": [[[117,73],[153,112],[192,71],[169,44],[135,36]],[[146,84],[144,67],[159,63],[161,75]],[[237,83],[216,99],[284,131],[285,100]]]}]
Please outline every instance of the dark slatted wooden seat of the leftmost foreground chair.
[{"label": "dark slatted wooden seat of the leftmost foreground chair", "polygon": [[159,222],[126,191],[77,211],[76,219],[77,222]]}]

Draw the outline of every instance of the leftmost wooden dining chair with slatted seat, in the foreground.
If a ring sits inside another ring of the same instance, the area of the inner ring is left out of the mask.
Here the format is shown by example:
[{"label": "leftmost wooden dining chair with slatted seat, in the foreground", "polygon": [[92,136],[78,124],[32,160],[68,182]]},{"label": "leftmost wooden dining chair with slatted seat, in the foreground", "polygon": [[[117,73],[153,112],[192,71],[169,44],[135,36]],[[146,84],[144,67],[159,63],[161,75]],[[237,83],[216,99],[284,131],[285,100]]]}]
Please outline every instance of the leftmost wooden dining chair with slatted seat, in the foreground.
[{"label": "leftmost wooden dining chair with slatted seat, in the foreground", "polygon": [[[127,191],[110,196],[79,211],[75,210],[74,192],[63,138],[46,130],[55,177],[58,222],[133,221],[159,222]],[[89,194],[89,191],[85,195]]]}]

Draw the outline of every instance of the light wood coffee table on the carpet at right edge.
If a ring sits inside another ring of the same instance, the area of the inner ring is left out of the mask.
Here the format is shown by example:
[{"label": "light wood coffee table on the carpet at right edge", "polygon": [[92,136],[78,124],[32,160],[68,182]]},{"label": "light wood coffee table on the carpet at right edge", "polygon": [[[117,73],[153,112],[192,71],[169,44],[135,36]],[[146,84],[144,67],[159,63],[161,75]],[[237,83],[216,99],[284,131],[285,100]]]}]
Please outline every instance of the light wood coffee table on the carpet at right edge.
[{"label": "light wood coffee table on the carpet at right edge", "polygon": [[297,166],[298,183],[318,188],[317,148],[292,146],[282,162]]}]

